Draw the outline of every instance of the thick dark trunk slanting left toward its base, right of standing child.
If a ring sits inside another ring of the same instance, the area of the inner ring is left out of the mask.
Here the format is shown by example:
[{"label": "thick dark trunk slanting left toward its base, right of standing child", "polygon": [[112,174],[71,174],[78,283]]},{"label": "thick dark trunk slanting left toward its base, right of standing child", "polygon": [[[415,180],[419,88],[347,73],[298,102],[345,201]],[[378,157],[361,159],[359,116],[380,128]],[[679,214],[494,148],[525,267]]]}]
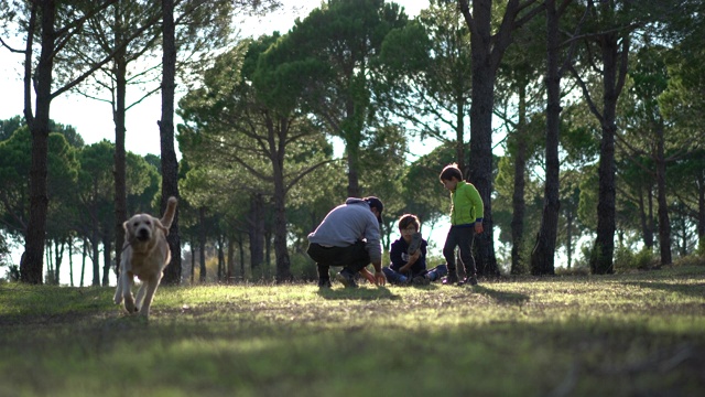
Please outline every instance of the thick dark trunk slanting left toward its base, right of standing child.
[{"label": "thick dark trunk slanting left toward its base, right of standing child", "polygon": [[561,72],[558,56],[558,13],[554,0],[546,0],[546,178],[543,197],[543,215],[531,253],[531,273],[534,276],[554,275],[555,240],[558,228],[560,161],[558,142],[561,129]]}]

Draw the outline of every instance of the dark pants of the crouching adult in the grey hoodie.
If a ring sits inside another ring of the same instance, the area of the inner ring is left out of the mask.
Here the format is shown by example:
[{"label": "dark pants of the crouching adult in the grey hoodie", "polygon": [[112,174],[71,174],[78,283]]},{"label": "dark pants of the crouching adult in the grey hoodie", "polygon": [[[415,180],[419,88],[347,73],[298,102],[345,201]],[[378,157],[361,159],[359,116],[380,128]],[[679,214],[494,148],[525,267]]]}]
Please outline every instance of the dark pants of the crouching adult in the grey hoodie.
[{"label": "dark pants of the crouching adult in the grey hoodie", "polygon": [[318,278],[328,280],[330,266],[341,266],[346,272],[356,275],[364,267],[370,264],[370,255],[365,248],[365,242],[347,247],[324,247],[321,244],[312,243],[306,250],[311,259],[318,266]]}]

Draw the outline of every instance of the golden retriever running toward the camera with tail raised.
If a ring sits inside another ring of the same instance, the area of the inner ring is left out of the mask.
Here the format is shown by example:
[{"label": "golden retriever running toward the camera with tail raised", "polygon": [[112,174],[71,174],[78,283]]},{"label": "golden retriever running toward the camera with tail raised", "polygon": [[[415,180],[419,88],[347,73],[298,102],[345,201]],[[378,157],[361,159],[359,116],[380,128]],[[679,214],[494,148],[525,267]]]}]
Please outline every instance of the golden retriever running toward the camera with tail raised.
[{"label": "golden retriever running toward the camera with tail raised", "polygon": [[[172,259],[166,236],[176,213],[176,197],[169,197],[166,212],[159,219],[149,214],[137,214],[126,221],[124,246],[120,260],[118,288],[115,291],[115,303],[124,299],[128,313],[140,312],[150,315],[150,305],[162,279],[163,270]],[[137,292],[137,301],[132,297],[132,286],[137,276],[142,285]]]}]

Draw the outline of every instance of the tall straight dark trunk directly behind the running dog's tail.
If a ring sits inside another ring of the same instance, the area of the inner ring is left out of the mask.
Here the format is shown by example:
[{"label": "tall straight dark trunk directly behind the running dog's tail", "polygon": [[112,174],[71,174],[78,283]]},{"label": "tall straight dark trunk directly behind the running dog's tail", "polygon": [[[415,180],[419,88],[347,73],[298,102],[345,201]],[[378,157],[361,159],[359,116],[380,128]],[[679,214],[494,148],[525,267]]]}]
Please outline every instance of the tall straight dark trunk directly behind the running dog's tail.
[{"label": "tall straight dark trunk directly behind the running dog's tail", "polygon": [[[162,0],[162,119],[159,122],[162,153],[162,214],[166,210],[166,201],[178,198],[178,161],[174,149],[174,92],[176,88],[176,43],[174,33],[174,0]],[[172,227],[166,236],[172,251],[172,261],[164,269],[162,282],[178,285],[181,282],[181,238],[178,236],[178,208],[174,215]]]}]

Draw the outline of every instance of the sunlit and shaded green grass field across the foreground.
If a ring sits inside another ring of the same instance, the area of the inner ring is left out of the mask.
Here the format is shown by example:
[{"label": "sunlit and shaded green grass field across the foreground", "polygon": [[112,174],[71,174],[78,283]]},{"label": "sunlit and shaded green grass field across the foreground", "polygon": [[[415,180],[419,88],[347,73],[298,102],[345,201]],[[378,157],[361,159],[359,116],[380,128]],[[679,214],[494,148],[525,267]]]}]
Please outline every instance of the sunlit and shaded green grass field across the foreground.
[{"label": "sunlit and shaded green grass field across the foreground", "polygon": [[477,287],[0,285],[0,396],[701,396],[705,266]]}]

